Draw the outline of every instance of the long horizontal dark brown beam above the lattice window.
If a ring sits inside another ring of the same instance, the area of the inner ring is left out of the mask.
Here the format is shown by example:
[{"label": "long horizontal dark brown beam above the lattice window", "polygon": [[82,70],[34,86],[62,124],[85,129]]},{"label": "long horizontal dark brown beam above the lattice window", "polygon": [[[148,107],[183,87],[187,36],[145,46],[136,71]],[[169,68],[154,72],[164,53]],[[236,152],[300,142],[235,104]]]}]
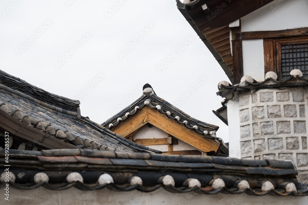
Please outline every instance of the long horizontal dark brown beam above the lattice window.
[{"label": "long horizontal dark brown beam above the lattice window", "polygon": [[277,31],[248,31],[234,34],[234,40],[250,40],[260,38],[282,38],[308,36],[308,28],[286,29]]}]

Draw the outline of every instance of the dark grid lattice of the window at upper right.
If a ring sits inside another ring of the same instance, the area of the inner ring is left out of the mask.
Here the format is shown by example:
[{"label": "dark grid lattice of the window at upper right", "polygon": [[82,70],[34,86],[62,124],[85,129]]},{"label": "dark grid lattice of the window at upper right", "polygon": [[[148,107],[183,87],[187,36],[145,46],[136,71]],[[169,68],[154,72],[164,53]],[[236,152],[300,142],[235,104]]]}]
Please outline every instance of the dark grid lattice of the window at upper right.
[{"label": "dark grid lattice of the window at upper right", "polygon": [[308,77],[308,44],[282,45],[281,67],[282,79],[290,77],[290,71],[299,69],[303,77]]}]

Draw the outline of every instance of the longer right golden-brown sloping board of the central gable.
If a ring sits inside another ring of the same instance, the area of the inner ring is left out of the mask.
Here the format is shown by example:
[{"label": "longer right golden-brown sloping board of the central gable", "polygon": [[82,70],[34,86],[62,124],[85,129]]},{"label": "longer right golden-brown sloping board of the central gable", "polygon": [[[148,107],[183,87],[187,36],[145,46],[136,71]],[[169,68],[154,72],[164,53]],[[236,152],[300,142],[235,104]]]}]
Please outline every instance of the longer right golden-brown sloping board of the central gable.
[{"label": "longer right golden-brown sloping board of the central gable", "polygon": [[149,123],[155,127],[167,132],[168,134],[192,145],[204,152],[216,152],[220,143],[213,139],[208,139],[194,130],[188,129],[185,126],[176,123],[174,120],[168,118],[165,114],[161,114],[153,109],[148,109]]}]

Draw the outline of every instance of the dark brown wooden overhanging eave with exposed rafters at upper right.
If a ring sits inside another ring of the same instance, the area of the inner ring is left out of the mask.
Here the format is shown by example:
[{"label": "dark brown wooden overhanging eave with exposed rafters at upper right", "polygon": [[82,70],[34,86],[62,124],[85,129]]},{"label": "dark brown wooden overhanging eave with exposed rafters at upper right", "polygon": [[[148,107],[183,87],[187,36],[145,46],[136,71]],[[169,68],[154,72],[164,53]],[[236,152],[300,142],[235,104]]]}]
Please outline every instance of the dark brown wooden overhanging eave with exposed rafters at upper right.
[{"label": "dark brown wooden overhanging eave with exposed rafters at upper right", "polygon": [[177,0],[177,6],[233,83],[229,23],[272,1]]}]

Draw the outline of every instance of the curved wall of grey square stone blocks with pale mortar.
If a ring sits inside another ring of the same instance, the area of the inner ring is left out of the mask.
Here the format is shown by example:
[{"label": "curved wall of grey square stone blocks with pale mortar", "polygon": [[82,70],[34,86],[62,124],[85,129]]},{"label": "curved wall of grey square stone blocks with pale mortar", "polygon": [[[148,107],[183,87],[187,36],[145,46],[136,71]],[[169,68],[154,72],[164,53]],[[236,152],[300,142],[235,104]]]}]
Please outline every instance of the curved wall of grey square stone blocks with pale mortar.
[{"label": "curved wall of grey square stone blocks with pale mortar", "polygon": [[260,89],[239,96],[241,158],[293,160],[308,182],[308,92]]}]

